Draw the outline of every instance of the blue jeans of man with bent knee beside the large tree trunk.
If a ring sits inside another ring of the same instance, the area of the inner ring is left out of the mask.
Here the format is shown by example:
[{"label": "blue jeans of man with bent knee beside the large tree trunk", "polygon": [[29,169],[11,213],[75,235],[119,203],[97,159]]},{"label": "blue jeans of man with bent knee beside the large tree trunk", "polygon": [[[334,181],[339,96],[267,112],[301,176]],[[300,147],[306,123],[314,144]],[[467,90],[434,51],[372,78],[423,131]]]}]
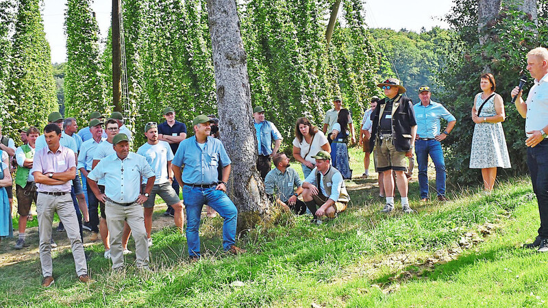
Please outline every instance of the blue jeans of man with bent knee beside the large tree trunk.
[{"label": "blue jeans of man with bent knee beside the large tree trunk", "polygon": [[190,257],[200,256],[200,216],[204,204],[212,207],[221,217],[223,222],[223,248],[229,250],[236,243],[236,222],[238,222],[238,209],[230,198],[221,190],[215,188],[192,188],[189,185],[183,187],[183,200],[186,207],[186,244]]}]

